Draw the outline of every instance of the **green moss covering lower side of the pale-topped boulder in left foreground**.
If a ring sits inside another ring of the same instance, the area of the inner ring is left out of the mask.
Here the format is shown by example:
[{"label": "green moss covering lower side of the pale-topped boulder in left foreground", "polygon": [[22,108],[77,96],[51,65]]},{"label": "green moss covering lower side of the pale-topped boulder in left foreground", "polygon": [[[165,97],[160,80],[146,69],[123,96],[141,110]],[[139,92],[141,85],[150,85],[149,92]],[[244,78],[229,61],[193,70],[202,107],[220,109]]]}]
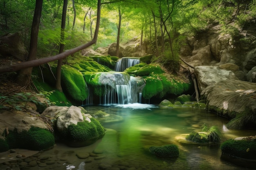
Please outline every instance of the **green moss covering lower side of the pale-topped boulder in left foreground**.
[{"label": "green moss covering lower side of the pale-topped boulder in left foreground", "polygon": [[91,122],[78,122],[76,125],[71,124],[67,128],[67,140],[69,141],[86,141],[105,134],[105,128],[101,126],[99,121],[90,118]]}]

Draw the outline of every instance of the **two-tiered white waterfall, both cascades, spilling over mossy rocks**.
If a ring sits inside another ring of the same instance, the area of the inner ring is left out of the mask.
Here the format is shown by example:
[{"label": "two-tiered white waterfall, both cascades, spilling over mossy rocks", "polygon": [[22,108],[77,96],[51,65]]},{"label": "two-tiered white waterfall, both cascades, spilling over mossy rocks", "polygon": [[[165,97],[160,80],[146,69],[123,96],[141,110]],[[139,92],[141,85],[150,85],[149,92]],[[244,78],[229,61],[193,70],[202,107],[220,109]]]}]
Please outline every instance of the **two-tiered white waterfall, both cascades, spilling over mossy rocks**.
[{"label": "two-tiered white waterfall, both cascades, spilling over mossy rocks", "polygon": [[[141,77],[132,77],[128,73],[122,72],[126,68],[136,64],[139,64],[138,57],[123,57],[116,64],[116,72],[95,73],[101,85],[105,86],[105,94],[100,97],[99,104],[141,103],[141,92],[145,86],[144,79]],[[89,86],[89,97],[86,99],[86,104],[94,104],[93,101],[93,92]]]}]

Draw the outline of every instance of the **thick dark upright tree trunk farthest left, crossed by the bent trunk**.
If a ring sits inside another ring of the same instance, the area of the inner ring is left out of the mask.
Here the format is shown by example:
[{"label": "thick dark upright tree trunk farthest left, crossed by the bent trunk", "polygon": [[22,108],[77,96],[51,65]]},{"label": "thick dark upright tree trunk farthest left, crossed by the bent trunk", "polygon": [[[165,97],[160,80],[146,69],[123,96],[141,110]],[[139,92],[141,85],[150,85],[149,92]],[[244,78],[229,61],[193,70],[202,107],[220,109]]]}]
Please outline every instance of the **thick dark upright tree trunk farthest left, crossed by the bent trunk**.
[{"label": "thick dark upright tree trunk farthest left, crossed by the bent trunk", "polygon": [[[43,0],[36,0],[36,7],[34,12],[33,23],[31,27],[30,35],[30,46],[29,46],[29,55],[27,61],[33,61],[36,59],[37,51],[37,40],[38,40],[38,31],[39,31],[39,22],[42,13]],[[31,82],[31,73],[32,67],[23,67],[24,69],[20,70],[17,77],[17,83],[22,86],[28,86]]]}]

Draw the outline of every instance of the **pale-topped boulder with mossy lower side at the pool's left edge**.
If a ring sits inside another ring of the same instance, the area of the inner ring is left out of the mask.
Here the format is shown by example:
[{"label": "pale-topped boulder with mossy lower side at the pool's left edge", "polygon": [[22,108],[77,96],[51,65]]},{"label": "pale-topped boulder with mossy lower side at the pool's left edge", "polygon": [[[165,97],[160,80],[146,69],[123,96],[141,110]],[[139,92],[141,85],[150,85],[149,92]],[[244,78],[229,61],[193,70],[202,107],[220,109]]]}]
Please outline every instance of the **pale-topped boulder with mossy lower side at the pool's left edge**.
[{"label": "pale-topped boulder with mossy lower side at the pool's left edge", "polygon": [[94,143],[105,134],[105,128],[80,107],[50,106],[42,113],[52,117],[56,134],[69,146],[82,147]]}]

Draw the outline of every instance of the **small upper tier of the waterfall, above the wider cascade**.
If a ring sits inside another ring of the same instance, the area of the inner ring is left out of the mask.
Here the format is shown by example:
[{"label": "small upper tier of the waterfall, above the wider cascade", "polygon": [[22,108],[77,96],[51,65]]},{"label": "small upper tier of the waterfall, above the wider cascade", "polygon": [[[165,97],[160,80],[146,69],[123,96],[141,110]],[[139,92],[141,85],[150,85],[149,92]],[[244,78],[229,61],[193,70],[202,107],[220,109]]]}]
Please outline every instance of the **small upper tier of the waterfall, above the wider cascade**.
[{"label": "small upper tier of the waterfall, above the wider cascade", "polygon": [[117,61],[115,71],[124,71],[126,68],[139,64],[139,57],[123,57]]}]

